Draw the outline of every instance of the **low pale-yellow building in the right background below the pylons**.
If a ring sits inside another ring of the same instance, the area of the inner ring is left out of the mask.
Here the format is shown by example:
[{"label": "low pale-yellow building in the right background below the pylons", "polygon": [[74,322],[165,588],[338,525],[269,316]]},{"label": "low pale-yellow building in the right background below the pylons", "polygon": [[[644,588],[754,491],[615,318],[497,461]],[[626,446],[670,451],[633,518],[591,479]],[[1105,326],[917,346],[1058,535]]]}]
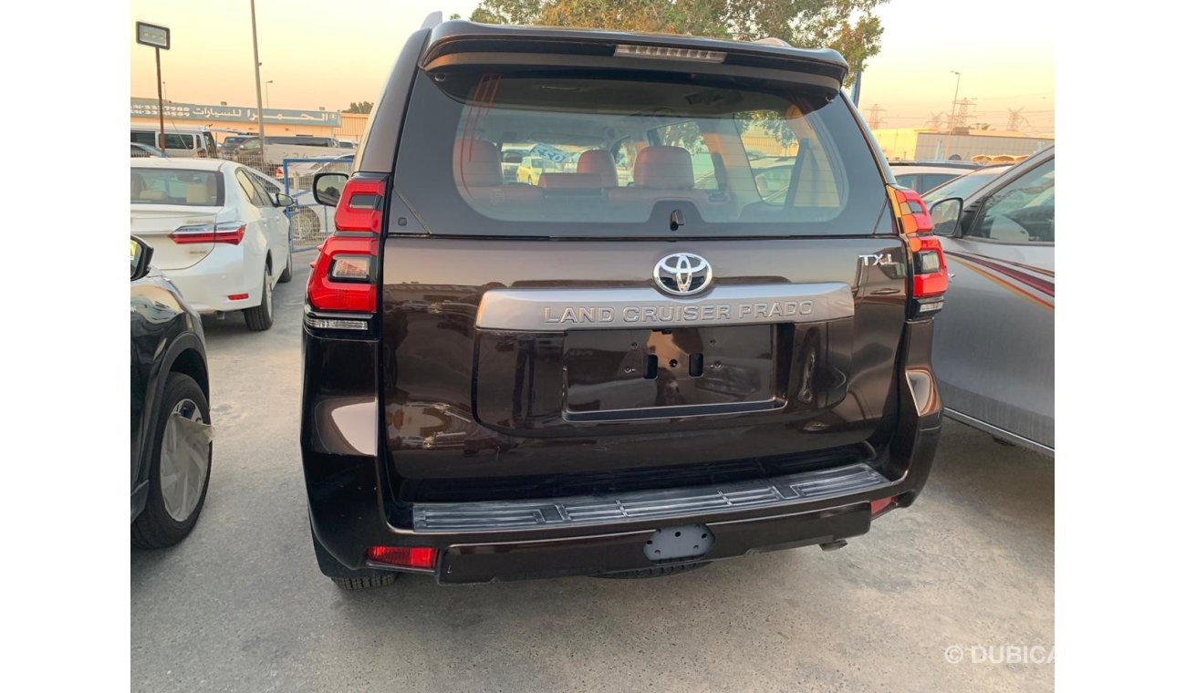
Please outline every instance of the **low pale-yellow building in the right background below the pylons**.
[{"label": "low pale-yellow building in the right background below the pylons", "polygon": [[873,137],[890,161],[970,161],[973,156],[1009,154],[1025,156],[1054,146],[1053,135],[1029,136],[1014,130],[956,128],[950,134],[936,128],[873,130]]}]

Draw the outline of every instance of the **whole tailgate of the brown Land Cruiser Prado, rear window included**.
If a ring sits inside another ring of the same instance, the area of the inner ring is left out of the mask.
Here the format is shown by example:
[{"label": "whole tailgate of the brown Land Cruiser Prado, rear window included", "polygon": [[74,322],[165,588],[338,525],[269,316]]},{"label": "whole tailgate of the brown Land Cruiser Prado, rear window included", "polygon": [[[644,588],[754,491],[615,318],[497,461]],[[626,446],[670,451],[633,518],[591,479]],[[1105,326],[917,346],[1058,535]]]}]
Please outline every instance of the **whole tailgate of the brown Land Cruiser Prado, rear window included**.
[{"label": "whole tailgate of the brown Land Cruiser Prado, rear window included", "polygon": [[[415,77],[387,210],[381,387],[401,498],[824,450],[839,464],[885,441],[906,249],[834,66],[780,82],[482,59]],[[559,171],[509,184],[499,142]],[[791,167],[785,191],[755,179],[767,154]],[[701,263],[691,284],[657,269]]]}]

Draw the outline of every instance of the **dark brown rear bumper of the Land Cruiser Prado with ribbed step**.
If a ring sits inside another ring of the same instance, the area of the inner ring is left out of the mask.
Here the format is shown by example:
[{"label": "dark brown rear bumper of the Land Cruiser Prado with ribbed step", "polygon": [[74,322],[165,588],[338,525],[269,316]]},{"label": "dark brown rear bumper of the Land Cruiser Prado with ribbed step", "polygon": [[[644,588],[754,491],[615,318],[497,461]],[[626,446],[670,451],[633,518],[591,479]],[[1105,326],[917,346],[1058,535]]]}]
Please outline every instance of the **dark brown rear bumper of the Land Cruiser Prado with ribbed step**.
[{"label": "dark brown rear bumper of the Land Cruiser Prado with ribbed step", "polygon": [[863,534],[872,501],[893,499],[897,507],[914,501],[938,443],[942,403],[930,370],[930,322],[910,323],[903,340],[893,434],[867,464],[616,496],[414,503],[408,521],[395,526],[377,422],[362,436],[374,436],[374,447],[358,443],[361,437],[356,444],[334,442],[318,431],[318,408],[311,405],[331,385],[336,397],[355,392],[365,399],[368,391],[377,392],[374,372],[339,372],[332,384],[323,384],[320,365],[326,359],[377,362],[380,344],[327,340],[306,331],[301,454],[314,541],[334,564],[321,560],[321,570],[331,577],[349,577],[336,570],[391,570],[368,563],[366,548],[421,546],[439,551],[436,567],[410,572],[431,572],[441,583],[483,583],[652,567],[646,541],[656,530],[684,525],[706,525],[715,535],[709,552],[688,563]]}]

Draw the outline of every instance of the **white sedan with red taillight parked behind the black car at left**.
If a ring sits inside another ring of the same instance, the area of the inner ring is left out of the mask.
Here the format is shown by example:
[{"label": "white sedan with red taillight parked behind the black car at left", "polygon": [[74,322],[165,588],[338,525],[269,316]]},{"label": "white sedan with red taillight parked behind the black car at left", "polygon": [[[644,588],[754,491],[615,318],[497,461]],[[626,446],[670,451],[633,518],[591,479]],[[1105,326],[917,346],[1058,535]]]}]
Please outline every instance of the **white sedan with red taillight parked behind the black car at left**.
[{"label": "white sedan with red taillight parked behind the black car at left", "polygon": [[198,313],[242,310],[272,327],[272,290],[292,278],[285,208],[253,168],[218,159],[132,160],[132,233]]}]

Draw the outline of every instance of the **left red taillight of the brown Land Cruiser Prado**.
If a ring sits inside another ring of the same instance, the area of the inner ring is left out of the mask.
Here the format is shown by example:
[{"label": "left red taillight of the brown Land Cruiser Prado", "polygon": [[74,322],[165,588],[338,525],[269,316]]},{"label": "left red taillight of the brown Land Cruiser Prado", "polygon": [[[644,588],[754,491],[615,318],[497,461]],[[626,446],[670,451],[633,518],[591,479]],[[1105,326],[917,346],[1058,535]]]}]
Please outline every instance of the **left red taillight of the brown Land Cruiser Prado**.
[{"label": "left red taillight of the brown Land Cruiser Prado", "polygon": [[[385,178],[353,178],[343,186],[333,213],[337,229],[321,244],[308,276],[307,299],[313,310],[375,313],[378,302],[378,243],[383,229]],[[315,319],[313,327],[365,329],[359,320]],[[308,322],[308,317],[306,322]]]}]

